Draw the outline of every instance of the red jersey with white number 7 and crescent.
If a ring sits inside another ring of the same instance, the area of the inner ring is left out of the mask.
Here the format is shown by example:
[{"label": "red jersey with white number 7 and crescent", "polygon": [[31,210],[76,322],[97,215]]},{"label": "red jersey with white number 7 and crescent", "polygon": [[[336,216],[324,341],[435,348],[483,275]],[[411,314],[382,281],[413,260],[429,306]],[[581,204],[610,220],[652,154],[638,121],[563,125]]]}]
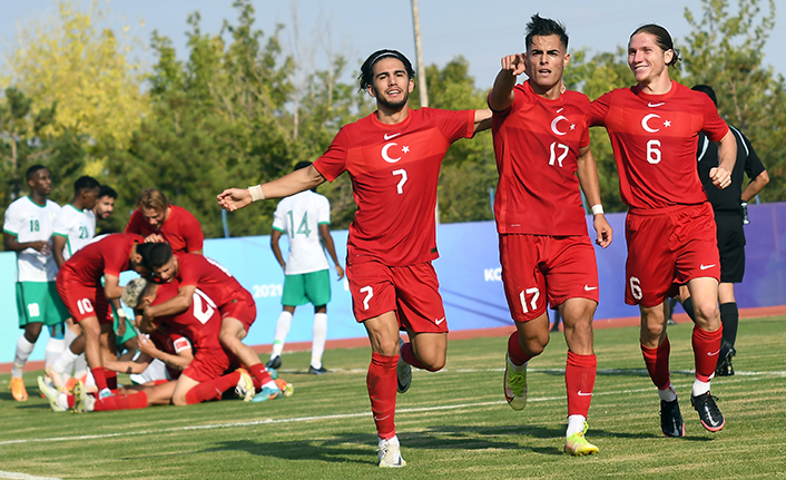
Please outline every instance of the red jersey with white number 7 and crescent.
[{"label": "red jersey with white number 7 and crescent", "polygon": [[471,138],[474,110],[409,110],[400,124],[372,114],[344,126],[314,167],[333,182],[345,170],[357,205],[346,263],[387,266],[429,262],[436,252],[434,208],[442,159],[451,144]]}]

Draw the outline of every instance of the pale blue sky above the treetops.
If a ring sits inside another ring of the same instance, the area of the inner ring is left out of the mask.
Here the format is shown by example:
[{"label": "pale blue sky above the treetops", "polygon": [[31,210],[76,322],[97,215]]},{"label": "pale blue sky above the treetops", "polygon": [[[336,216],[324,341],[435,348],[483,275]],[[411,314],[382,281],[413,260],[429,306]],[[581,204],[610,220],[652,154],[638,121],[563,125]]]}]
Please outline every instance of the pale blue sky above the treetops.
[{"label": "pale blue sky above the treetops", "polygon": [[[86,9],[87,1],[72,0]],[[562,21],[570,36],[569,50],[587,48],[591,53],[616,51],[643,23],[666,27],[677,45],[690,32],[685,9],[701,16],[700,0],[659,0],[646,9],[630,0],[419,0],[422,49],[425,65],[444,66],[458,56],[470,63],[478,87],[491,86],[500,58],[523,50],[524,25],[533,13]],[[729,0],[736,8],[736,0]],[[766,11],[766,0],[764,8]],[[124,25],[149,45],[154,30],[169,37],[179,58],[186,58],[186,19],[199,11],[202,30],[217,33],[224,19],[236,21],[232,0],[99,0],[108,13],[106,25],[119,30]],[[328,52],[348,60],[348,74],[357,71],[371,52],[381,48],[401,50],[415,63],[412,4],[407,0],[369,2],[356,0],[253,0],[256,27],[269,36],[283,23],[282,41],[287,52],[299,46],[298,58],[306,70],[324,68]],[[13,51],[20,27],[57,14],[55,0],[3,1],[0,17],[0,55]],[[493,8],[492,8],[493,7]],[[296,42],[293,18],[297,18]],[[786,11],[777,11],[775,29],[765,47],[764,63],[786,76]],[[143,49],[139,58],[150,66],[155,57]],[[4,63],[4,62],[3,62]],[[350,79],[348,76],[345,78]],[[631,76],[632,84],[632,76]]]}]

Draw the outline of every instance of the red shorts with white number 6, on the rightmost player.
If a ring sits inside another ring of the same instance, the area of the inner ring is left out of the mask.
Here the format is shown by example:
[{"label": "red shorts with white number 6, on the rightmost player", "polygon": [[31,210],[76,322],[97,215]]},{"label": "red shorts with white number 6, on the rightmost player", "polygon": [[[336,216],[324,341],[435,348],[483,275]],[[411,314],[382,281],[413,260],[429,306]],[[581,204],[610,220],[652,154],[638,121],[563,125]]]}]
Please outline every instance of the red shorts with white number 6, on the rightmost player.
[{"label": "red shorts with white number 6, on the rightmost player", "polygon": [[720,277],[715,217],[710,204],[629,212],[625,302],[656,306],[679,285]]}]

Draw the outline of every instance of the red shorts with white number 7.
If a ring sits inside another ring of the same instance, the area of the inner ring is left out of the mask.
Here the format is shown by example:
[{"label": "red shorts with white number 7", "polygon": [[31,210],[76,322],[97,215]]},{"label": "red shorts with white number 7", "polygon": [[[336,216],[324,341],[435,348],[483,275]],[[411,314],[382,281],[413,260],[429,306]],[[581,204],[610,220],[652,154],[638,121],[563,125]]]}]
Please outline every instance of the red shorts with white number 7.
[{"label": "red shorts with white number 7", "polygon": [[448,332],[440,283],[431,262],[385,266],[380,262],[347,265],[352,311],[357,322],[395,312],[401,330]]}]

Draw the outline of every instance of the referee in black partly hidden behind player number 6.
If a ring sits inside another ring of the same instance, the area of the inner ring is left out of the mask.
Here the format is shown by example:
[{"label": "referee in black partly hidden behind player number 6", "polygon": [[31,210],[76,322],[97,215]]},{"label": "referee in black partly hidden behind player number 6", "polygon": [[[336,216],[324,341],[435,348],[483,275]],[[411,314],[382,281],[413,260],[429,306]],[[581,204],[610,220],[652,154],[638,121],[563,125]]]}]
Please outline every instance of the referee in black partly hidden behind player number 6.
[{"label": "referee in black partly hidden behind player number 6", "polygon": [[[718,106],[715,91],[707,85],[697,85],[692,90],[707,94]],[[699,134],[698,159],[699,178],[707,192],[707,197],[715,210],[715,223],[718,226],[718,251],[720,252],[720,285],[718,301],[720,303],[720,321],[724,325],[724,336],[720,342],[720,353],[715,374],[718,376],[734,375],[731,357],[737,353],[734,347],[737,339],[739,312],[734,296],[734,284],[743,282],[745,274],[745,232],[743,225],[748,223],[748,202],[769,183],[769,175],[762,165],[750,140],[737,128],[729,125],[737,139],[737,161],[731,173],[731,185],[728,188],[715,188],[709,177],[709,169],[718,166],[718,146]],[[750,183],[743,190],[743,176],[746,174]],[[680,302],[686,313],[696,322],[694,304],[686,286],[679,291]]]}]

